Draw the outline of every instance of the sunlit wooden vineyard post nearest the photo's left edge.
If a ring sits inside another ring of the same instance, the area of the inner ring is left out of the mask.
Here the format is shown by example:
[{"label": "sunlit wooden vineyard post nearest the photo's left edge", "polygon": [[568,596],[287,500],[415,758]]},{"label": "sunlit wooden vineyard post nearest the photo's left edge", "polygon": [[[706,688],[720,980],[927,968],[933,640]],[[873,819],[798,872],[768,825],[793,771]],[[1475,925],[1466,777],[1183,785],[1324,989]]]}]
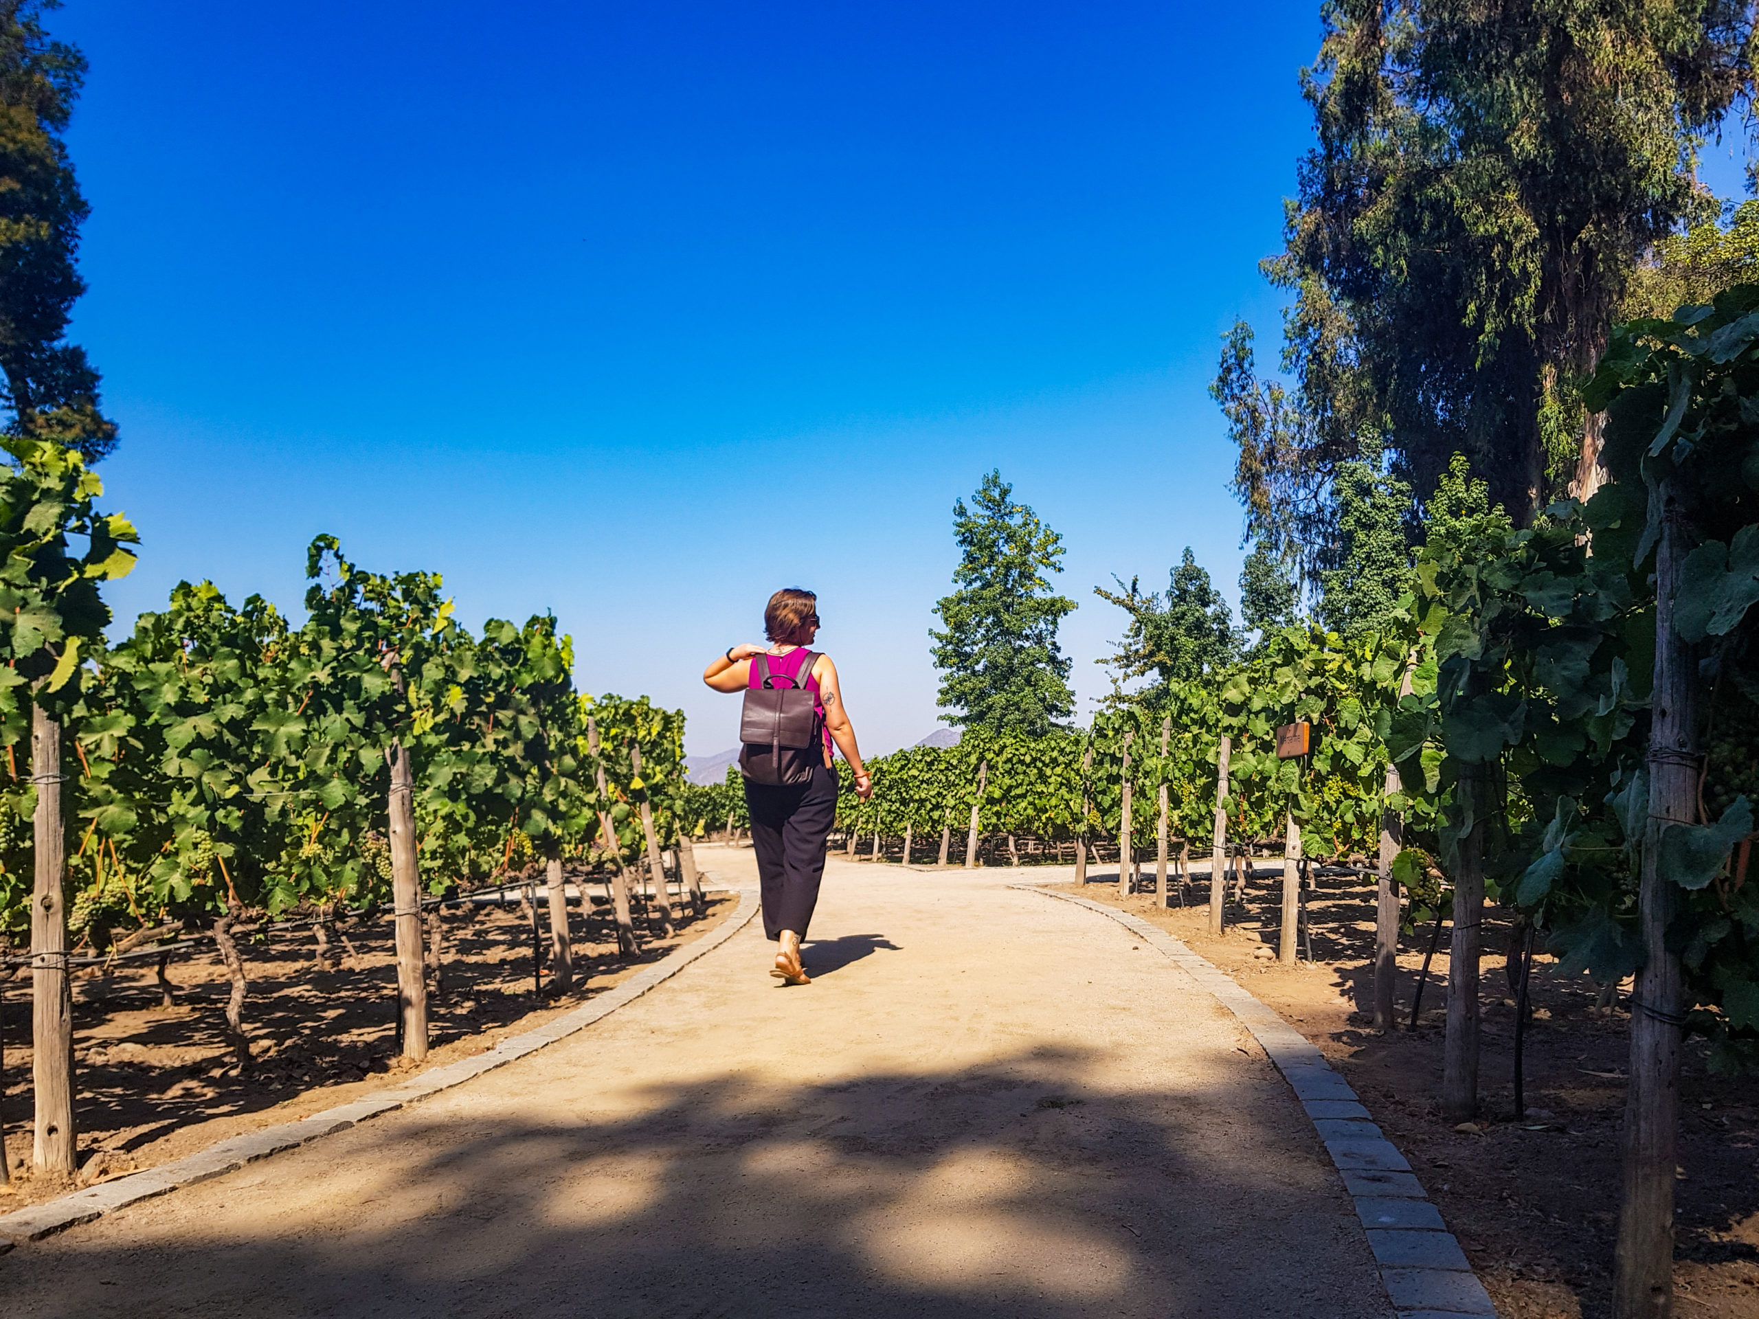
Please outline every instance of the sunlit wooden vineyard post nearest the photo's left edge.
[{"label": "sunlit wooden vineyard post nearest the photo's left edge", "polygon": [[[32,1166],[72,1177],[74,997],[67,980],[67,842],[62,834],[62,725],[30,707],[30,777],[37,786],[32,818],[35,886],[30,904],[32,1094],[37,1136]],[[5,1155],[0,1154],[0,1159]]]}]

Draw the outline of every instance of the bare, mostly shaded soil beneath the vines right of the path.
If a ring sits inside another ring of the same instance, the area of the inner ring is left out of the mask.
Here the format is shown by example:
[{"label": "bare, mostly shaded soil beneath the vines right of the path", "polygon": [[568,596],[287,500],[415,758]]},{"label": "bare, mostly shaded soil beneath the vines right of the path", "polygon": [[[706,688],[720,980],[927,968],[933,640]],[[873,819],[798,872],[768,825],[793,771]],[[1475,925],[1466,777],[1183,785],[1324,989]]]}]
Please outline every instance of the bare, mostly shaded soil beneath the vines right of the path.
[{"label": "bare, mostly shaded soil beneath the vines right of the path", "polygon": [[[1507,983],[1509,923],[1486,909],[1481,971],[1481,1131],[1441,1119],[1448,936],[1409,1027],[1418,967],[1430,930],[1405,939],[1400,1029],[1372,1029],[1374,888],[1354,876],[1319,879],[1309,906],[1314,962],[1282,967],[1281,862],[1259,864],[1228,930],[1208,932],[1208,876],[1198,874],[1184,909],[1161,909],[1150,892],[1119,897],[1117,874],[1089,876],[1084,897],[1124,907],[1177,934],[1237,976],[1317,1045],[1361,1096],[1374,1120],[1411,1159],[1460,1238],[1504,1319],[1601,1319],[1611,1314],[1618,1208],[1618,1129],[1625,1099],[1631,1017],[1595,1009],[1597,987],[1534,958],[1527,1032],[1527,1117],[1514,1113],[1514,990]],[[1177,904],[1177,893],[1170,902]],[[1680,1083],[1680,1198],[1675,1289],[1678,1314],[1759,1315],[1759,1085],[1704,1069],[1690,1043]]]}]

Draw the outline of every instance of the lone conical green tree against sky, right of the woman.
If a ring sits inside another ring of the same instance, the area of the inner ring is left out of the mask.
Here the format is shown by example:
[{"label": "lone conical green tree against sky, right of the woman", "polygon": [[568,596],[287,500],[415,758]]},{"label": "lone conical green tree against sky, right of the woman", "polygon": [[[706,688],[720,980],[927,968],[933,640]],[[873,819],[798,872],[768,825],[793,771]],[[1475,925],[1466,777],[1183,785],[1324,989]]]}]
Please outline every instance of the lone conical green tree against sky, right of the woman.
[{"label": "lone conical green tree against sky, right of the woman", "polygon": [[1075,601],[1050,587],[1050,573],[1062,572],[1062,536],[1011,496],[990,471],[969,508],[953,505],[955,591],[934,607],[946,630],[929,635],[938,703],[953,711],[952,723],[1041,735],[1075,711],[1069,660],[1057,645]]}]

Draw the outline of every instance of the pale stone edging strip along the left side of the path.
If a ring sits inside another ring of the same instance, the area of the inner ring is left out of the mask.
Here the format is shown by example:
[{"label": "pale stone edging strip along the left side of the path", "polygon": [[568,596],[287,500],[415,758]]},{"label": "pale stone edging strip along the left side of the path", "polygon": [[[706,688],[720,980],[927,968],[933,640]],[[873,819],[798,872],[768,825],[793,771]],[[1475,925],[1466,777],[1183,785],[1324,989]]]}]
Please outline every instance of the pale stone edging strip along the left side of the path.
[{"label": "pale stone edging strip along the left side of the path", "polygon": [[584,1031],[593,1022],[609,1017],[617,1008],[633,1002],[642,994],[654,988],[654,985],[670,980],[698,957],[714,951],[718,946],[739,934],[739,930],[742,930],[758,913],[758,893],[755,888],[741,888],[737,892],[739,906],[734,907],[732,915],[721,922],[719,927],[705,934],[702,939],[668,953],[653,966],[637,971],[616,988],[609,988],[603,994],[595,995],[586,1004],[558,1017],[554,1022],[547,1022],[535,1031],[526,1031],[517,1036],[507,1036],[482,1053],[459,1059],[457,1062],[449,1062],[447,1066],[434,1068],[433,1071],[424,1071],[405,1085],[382,1090],[380,1094],[368,1096],[366,1099],[355,1099],[350,1104],[327,1108],[322,1113],[313,1113],[299,1122],[283,1122],[262,1131],[232,1136],[199,1154],[192,1154],[186,1159],[178,1159],[176,1162],[167,1162],[160,1168],[148,1168],[142,1173],[118,1177],[114,1182],[104,1182],[102,1185],[95,1185],[86,1191],[76,1191],[70,1196],[51,1199],[46,1205],[32,1205],[30,1208],[0,1215],[0,1254],[5,1254],[19,1242],[39,1242],[44,1236],[58,1233],[65,1228],[90,1222],[104,1213],[113,1213],[125,1205],[135,1205],[142,1199],[164,1196],[178,1187],[206,1182],[211,1177],[230,1173],[236,1168],[255,1162],[257,1159],[267,1159],[271,1154],[299,1148],[301,1145],[318,1140],[320,1136],[347,1131],[355,1122],[366,1122],[380,1113],[390,1113],[398,1108],[436,1096],[442,1090],[450,1090],[454,1085],[463,1085],[473,1076],[503,1068],[514,1059],[522,1059],[526,1053],[535,1053],[545,1045],[554,1045],[558,1039],[566,1039],[577,1031]]}]

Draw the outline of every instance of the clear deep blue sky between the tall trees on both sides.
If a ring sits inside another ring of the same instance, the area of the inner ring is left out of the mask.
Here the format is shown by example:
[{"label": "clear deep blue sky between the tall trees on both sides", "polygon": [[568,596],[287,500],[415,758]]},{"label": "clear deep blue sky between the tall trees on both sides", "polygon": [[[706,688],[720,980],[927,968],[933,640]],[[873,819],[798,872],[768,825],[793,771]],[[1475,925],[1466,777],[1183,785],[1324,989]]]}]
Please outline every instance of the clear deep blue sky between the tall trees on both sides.
[{"label": "clear deep blue sky between the tall trees on both sides", "polygon": [[76,341],[178,579],[297,614],[304,545],[552,608],[588,691],[737,740],[700,670],[820,593],[869,751],[936,726],[952,505],[1062,533],[1082,714],[1184,545],[1235,593],[1219,336],[1310,139],[1316,0],[69,0]]}]

